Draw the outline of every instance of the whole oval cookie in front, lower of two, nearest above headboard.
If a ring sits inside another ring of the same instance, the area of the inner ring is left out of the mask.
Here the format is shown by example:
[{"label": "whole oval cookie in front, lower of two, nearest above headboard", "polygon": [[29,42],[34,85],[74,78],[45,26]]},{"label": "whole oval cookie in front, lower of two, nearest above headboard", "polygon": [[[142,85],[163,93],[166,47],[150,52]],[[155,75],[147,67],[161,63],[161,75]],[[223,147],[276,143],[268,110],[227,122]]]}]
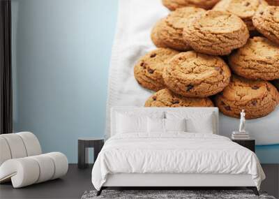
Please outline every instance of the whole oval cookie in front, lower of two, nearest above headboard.
[{"label": "whole oval cookie in front, lower of two, nearest above headboard", "polygon": [[[216,70],[216,67],[221,69]],[[223,59],[195,51],[177,54],[163,71],[167,88],[187,97],[217,94],[229,84],[230,76],[229,67]]]}]

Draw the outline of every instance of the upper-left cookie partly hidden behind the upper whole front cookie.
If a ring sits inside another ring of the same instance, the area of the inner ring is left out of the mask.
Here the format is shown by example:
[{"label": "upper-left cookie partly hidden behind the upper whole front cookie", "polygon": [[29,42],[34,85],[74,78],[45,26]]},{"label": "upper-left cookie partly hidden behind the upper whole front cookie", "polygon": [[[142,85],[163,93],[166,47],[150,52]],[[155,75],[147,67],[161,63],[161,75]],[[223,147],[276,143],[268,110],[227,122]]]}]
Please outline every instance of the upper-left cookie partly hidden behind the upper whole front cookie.
[{"label": "upper-left cookie partly hidden behind the upper whole front cookie", "polygon": [[183,40],[183,29],[187,27],[190,20],[204,12],[202,8],[186,7],[169,13],[165,20],[158,22],[156,29],[158,40],[175,50],[190,50],[188,43]]}]

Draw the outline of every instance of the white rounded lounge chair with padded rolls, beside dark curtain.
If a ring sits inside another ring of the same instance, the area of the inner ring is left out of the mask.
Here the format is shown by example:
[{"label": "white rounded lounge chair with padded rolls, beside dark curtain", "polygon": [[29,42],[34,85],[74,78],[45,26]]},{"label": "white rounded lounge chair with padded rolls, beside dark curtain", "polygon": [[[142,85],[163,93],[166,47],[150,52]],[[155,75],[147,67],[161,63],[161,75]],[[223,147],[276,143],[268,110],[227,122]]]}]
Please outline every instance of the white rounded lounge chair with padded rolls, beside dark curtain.
[{"label": "white rounded lounge chair with padded rolls, beside dark curtain", "polygon": [[0,182],[12,181],[14,188],[66,175],[68,159],[60,152],[41,154],[33,133],[0,135]]}]

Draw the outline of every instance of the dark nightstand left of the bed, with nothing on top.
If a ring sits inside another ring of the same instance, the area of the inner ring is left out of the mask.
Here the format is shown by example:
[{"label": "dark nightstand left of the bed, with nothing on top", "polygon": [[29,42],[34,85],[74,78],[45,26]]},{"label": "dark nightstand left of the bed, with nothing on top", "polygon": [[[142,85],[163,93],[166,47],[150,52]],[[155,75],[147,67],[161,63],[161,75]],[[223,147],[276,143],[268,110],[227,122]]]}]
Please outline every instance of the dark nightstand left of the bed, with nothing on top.
[{"label": "dark nightstand left of the bed, with nothing on top", "polygon": [[94,162],[104,145],[103,138],[78,138],[78,168],[88,168],[88,148],[94,149]]}]

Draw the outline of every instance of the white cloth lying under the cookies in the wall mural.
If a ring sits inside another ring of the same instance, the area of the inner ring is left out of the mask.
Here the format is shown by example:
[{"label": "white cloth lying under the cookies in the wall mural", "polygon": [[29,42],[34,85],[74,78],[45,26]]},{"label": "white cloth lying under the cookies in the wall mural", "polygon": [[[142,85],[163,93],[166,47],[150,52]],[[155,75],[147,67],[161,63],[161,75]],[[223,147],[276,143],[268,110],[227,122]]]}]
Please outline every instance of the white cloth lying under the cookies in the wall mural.
[{"label": "white cloth lying under the cookies in the wall mural", "polygon": [[[142,55],[155,49],[150,33],[153,25],[169,10],[160,0],[119,0],[116,35],[112,47],[107,98],[106,135],[110,132],[110,108],[144,106],[153,91],[140,87],[134,78],[134,65]],[[238,131],[239,119],[220,114],[220,134],[231,137]],[[257,145],[279,143],[279,108],[266,117],[246,120],[246,131]]]}]

